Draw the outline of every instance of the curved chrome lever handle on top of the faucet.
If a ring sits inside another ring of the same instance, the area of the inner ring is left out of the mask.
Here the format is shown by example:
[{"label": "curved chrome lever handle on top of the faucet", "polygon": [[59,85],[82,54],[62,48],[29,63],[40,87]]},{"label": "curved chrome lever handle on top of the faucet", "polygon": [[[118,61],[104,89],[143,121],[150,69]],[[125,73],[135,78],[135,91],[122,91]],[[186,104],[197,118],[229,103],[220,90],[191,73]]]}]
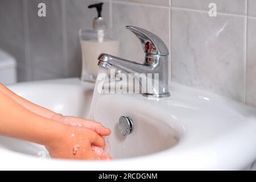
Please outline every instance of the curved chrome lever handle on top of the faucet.
[{"label": "curved chrome lever handle on top of the faucet", "polygon": [[132,31],[138,39],[141,41],[144,52],[151,55],[168,56],[169,51],[166,44],[158,36],[143,28],[126,26],[126,28]]}]

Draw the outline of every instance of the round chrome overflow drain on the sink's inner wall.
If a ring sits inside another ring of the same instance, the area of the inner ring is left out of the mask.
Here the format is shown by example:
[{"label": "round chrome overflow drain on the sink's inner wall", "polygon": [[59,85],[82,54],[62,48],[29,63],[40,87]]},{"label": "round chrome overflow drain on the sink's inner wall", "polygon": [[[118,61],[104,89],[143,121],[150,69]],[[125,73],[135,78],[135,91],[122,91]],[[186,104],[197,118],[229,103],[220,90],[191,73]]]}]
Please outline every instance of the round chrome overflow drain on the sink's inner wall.
[{"label": "round chrome overflow drain on the sink's inner wall", "polygon": [[119,118],[119,131],[123,136],[133,133],[134,123],[130,117],[122,116]]}]

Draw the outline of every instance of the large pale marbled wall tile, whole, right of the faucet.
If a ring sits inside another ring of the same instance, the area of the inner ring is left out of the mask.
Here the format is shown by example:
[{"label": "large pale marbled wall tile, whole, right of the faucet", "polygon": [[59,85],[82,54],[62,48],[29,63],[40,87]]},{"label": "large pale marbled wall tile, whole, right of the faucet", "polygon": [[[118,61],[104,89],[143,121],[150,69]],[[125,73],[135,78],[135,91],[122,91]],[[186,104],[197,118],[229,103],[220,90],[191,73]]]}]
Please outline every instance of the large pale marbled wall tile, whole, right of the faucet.
[{"label": "large pale marbled wall tile, whole, right of the faucet", "polygon": [[172,10],[172,80],[243,101],[245,17]]}]

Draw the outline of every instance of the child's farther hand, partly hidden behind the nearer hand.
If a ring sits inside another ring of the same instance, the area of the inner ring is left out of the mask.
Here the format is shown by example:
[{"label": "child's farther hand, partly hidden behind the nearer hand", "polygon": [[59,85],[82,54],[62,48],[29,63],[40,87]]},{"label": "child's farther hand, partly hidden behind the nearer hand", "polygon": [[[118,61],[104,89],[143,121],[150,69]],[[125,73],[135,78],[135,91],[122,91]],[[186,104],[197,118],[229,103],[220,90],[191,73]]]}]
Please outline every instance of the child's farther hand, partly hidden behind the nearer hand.
[{"label": "child's farther hand, partly hidden behind the nearer hand", "polygon": [[52,118],[55,121],[59,121],[64,123],[65,125],[77,126],[77,127],[85,127],[87,129],[95,131],[97,134],[101,136],[108,136],[111,133],[110,129],[105,128],[101,125],[101,123],[95,121],[89,121],[83,118],[71,117],[71,116],[63,116],[61,114],[55,114]]}]

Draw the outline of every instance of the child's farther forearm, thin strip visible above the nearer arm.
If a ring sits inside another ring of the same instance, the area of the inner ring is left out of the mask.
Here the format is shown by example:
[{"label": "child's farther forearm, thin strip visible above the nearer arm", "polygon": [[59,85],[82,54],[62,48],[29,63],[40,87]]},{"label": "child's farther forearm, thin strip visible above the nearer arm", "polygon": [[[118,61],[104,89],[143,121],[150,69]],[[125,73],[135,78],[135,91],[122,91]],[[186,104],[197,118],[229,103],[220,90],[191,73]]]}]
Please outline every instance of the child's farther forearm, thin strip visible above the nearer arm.
[{"label": "child's farther forearm, thin strip visible above the nearer arm", "polygon": [[41,115],[49,119],[53,118],[56,115],[55,112],[48,110],[44,107],[41,107],[39,105],[33,104],[32,102],[27,101],[24,98],[18,96],[17,94],[15,94],[14,92],[9,90],[8,88],[6,88],[6,86],[2,84],[0,84],[0,92],[6,94],[10,98],[12,98],[15,102],[18,102],[19,105],[22,105],[23,107],[32,111],[35,114]]}]

